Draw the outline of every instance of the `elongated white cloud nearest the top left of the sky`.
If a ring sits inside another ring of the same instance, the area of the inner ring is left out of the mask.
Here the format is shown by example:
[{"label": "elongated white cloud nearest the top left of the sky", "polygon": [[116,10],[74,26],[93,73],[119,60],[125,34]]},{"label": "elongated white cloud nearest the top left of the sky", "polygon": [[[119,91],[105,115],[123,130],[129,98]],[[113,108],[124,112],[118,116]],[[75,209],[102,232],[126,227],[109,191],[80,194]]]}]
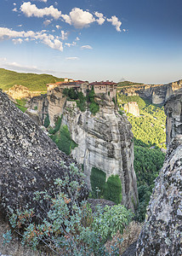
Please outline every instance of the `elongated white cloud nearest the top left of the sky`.
[{"label": "elongated white cloud nearest the top left of the sky", "polygon": [[55,20],[57,20],[61,16],[61,11],[55,9],[53,5],[43,9],[37,9],[36,4],[31,4],[31,2],[27,2],[21,4],[20,10],[27,17],[35,16],[38,18],[43,18],[43,16],[52,16]]}]

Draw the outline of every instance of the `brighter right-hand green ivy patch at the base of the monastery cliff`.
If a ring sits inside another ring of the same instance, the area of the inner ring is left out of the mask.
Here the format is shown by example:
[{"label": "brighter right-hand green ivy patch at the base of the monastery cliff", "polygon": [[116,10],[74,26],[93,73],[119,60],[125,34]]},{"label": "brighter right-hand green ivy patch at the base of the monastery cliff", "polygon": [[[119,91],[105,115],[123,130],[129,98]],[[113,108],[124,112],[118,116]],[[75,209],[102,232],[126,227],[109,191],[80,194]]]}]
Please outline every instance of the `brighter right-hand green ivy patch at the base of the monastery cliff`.
[{"label": "brighter right-hand green ivy patch at the base of the monastery cliff", "polygon": [[116,204],[122,201],[122,182],[118,175],[108,177],[105,184],[104,197],[107,200],[114,201]]}]

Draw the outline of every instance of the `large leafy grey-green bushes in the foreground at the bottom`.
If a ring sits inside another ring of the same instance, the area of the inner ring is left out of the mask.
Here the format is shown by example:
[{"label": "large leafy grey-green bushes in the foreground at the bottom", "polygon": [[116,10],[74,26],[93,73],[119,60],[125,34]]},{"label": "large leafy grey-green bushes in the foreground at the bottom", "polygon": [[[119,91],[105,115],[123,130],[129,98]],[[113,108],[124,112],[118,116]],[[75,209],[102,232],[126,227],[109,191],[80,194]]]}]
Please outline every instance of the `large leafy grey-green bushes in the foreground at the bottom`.
[{"label": "large leafy grey-green bushes in the foreground at the bottom", "polygon": [[[65,163],[61,165],[65,166]],[[105,241],[115,236],[117,230],[122,233],[133,213],[123,206],[106,206],[104,210],[93,213],[86,201],[78,204],[82,185],[74,177],[79,174],[83,178],[83,174],[74,164],[65,168],[70,169],[71,176],[65,172],[64,179],[55,180],[58,193],[53,196],[47,191],[35,193],[34,200],[40,206],[42,201],[46,201],[46,216],[37,215],[39,221],[35,223],[34,210],[18,209],[17,212],[10,212],[10,224],[22,236],[23,244],[27,243],[35,250],[42,244],[48,255],[50,252],[68,256],[118,255],[115,246],[110,253],[107,252]]]}]

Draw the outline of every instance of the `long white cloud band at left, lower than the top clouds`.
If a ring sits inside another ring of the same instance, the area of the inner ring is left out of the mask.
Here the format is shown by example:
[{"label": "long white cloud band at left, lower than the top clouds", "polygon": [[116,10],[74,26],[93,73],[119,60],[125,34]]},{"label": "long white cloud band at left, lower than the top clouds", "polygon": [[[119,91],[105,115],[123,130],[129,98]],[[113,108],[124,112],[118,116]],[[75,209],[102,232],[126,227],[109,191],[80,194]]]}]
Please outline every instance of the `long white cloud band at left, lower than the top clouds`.
[{"label": "long white cloud band at left, lower than the top clouds", "polygon": [[[0,27],[0,39],[2,40],[12,39],[12,41],[17,44],[17,43],[22,43],[22,41],[20,42],[20,40],[23,40],[22,38],[39,40],[42,44],[46,44],[52,49],[58,49],[60,51],[63,51],[62,42],[60,42],[58,38],[54,38],[53,35],[47,34],[45,30],[41,32],[33,32],[33,31],[17,32],[7,27]],[[19,40],[19,42],[17,40]]]}]

